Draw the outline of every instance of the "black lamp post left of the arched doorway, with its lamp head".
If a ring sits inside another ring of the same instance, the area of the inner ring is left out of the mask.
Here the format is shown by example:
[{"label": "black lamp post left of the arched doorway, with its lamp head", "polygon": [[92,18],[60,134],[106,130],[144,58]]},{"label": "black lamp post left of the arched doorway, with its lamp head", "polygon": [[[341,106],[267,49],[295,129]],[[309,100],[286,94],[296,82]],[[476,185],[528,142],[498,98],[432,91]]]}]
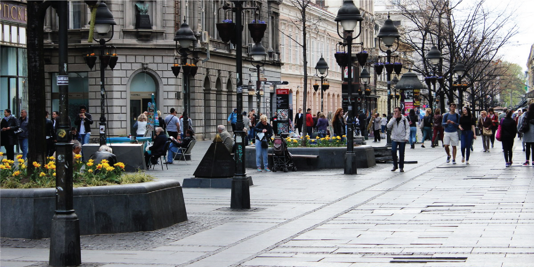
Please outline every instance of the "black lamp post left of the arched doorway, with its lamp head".
[{"label": "black lamp post left of the arched doorway, with its lamp head", "polygon": [[[98,51],[99,51],[99,57],[100,57],[100,123],[99,123],[99,132],[100,132],[100,138],[99,143],[100,145],[106,145],[106,115],[104,114],[104,105],[105,105],[105,98],[106,98],[106,89],[105,89],[105,77],[104,77],[104,70],[107,66],[110,66],[110,60],[111,55],[105,54],[105,50],[107,47],[111,47],[106,45],[107,42],[111,41],[113,38],[113,25],[116,25],[117,23],[113,19],[113,14],[109,9],[107,8],[106,3],[100,2],[97,7],[97,13],[95,17],[95,30],[98,33],[99,36],[101,36],[100,40],[97,40],[95,37],[93,39],[98,42]],[[111,37],[109,39],[105,39],[104,36],[108,34],[109,30],[111,30]],[[116,63],[116,59],[115,59]],[[113,65],[114,67],[115,65]],[[110,66],[111,67],[111,66]]]}]

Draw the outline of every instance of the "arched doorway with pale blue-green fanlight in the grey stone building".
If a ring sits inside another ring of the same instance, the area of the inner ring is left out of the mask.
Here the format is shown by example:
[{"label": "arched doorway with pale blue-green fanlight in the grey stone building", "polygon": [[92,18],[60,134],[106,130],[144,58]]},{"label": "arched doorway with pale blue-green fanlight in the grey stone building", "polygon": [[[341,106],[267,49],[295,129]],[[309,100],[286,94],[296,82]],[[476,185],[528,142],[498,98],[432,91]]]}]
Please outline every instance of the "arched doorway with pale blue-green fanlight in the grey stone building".
[{"label": "arched doorway with pale blue-green fanlight in the grey stone building", "polygon": [[151,72],[146,72],[140,70],[138,73],[133,74],[129,81],[129,90],[130,90],[130,105],[129,105],[129,132],[135,134],[135,129],[133,129],[133,124],[137,121],[137,117],[147,111],[148,103],[152,101],[152,93],[154,93],[154,98],[156,101],[156,108],[158,106],[158,83],[154,81],[154,74]]}]

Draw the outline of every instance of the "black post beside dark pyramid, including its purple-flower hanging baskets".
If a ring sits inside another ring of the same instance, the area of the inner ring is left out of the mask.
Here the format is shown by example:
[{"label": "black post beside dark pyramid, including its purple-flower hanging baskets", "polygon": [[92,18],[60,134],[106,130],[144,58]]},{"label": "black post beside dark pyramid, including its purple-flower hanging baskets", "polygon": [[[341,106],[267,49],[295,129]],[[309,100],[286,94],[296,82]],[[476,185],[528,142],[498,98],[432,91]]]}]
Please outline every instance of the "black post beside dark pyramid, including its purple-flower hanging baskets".
[{"label": "black post beside dark pyramid, including its purple-flower hanging baskets", "polygon": [[[245,134],[243,131],[243,58],[242,58],[242,28],[243,28],[243,14],[245,10],[257,10],[259,7],[243,7],[245,1],[232,1],[234,3],[233,7],[224,5],[221,7],[223,10],[231,10],[235,13],[235,26],[234,26],[234,37],[224,38],[224,42],[231,41],[235,44],[235,71],[236,71],[236,80],[237,80],[237,123],[235,125],[235,175],[232,178],[232,193],[230,200],[230,208],[232,209],[250,209],[250,190],[248,177],[245,170]],[[256,12],[259,15],[260,12]],[[266,29],[266,23],[261,23],[259,17],[256,17],[254,20],[256,23],[249,23],[248,28],[250,31],[250,36],[254,40],[254,43],[260,43]],[[260,23],[258,23],[260,22]],[[232,22],[233,23],[233,22]],[[224,33],[231,33],[231,30],[217,27],[219,35],[225,36]],[[222,32],[223,31],[223,32]],[[223,33],[223,34],[222,34]],[[232,39],[232,40],[230,40]],[[235,41],[235,42],[234,42]]]}]

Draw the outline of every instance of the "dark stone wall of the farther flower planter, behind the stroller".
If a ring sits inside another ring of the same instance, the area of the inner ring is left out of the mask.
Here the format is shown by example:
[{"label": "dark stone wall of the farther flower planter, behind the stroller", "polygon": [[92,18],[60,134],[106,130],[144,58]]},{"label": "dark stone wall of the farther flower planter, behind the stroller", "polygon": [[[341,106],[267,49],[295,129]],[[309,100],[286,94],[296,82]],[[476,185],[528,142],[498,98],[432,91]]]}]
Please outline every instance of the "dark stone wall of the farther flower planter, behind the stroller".
[{"label": "dark stone wall of the farther flower planter, behind the stroller", "polygon": [[[343,169],[345,167],[345,154],[347,147],[288,147],[287,150],[295,155],[319,155],[317,159],[293,158],[297,169]],[[271,147],[268,153],[272,153]],[[247,146],[245,150],[247,160],[246,168],[256,168],[256,147]],[[376,166],[372,146],[361,145],[354,147],[353,168],[370,168]],[[272,157],[269,156],[269,166],[272,166]]]}]

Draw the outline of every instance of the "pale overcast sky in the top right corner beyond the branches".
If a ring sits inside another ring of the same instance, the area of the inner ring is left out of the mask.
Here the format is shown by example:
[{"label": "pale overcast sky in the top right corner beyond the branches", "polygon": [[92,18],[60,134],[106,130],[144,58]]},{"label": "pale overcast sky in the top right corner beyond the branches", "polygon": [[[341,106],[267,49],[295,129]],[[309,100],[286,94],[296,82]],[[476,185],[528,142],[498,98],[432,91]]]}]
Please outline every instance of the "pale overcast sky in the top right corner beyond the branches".
[{"label": "pale overcast sky in the top right corner beyond the branches", "polygon": [[534,44],[534,29],[532,25],[534,1],[486,0],[485,4],[490,8],[514,12],[511,19],[519,27],[519,34],[511,38],[509,46],[502,50],[499,49],[499,53],[502,54],[505,61],[515,63],[521,66],[523,70],[527,70],[530,47]]}]

